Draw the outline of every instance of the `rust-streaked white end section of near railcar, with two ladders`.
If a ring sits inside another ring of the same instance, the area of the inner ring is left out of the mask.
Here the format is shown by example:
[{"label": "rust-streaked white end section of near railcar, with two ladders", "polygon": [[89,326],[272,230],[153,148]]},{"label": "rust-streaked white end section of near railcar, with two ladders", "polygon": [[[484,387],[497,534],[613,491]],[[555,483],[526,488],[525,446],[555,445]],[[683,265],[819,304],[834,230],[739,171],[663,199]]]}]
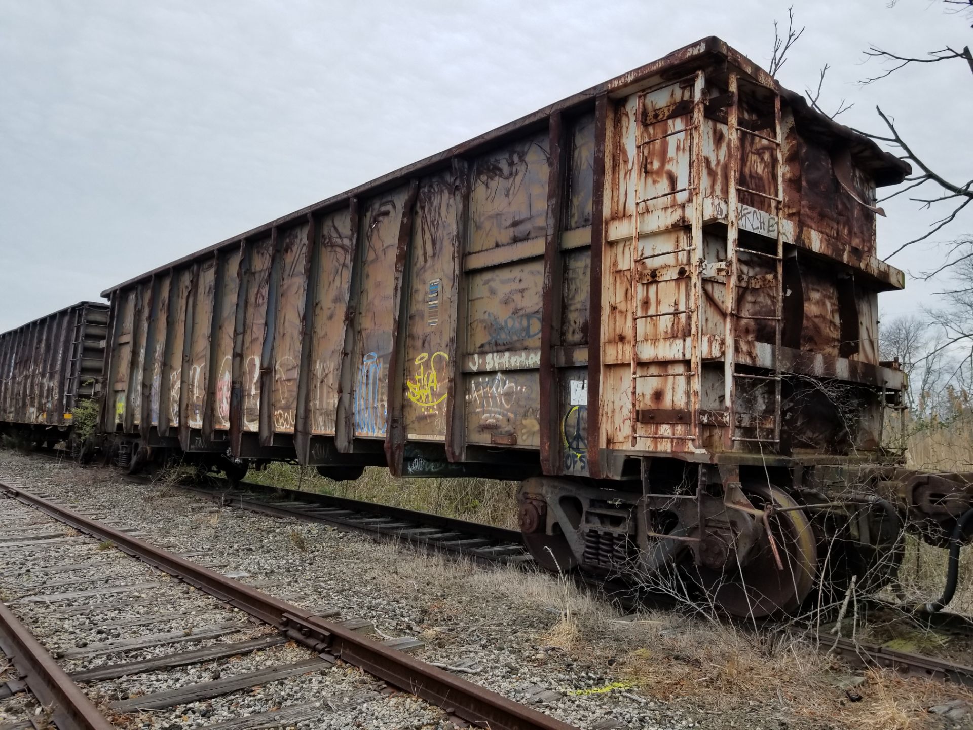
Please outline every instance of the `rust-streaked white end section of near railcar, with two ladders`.
[{"label": "rust-streaked white end section of near railcar, with two ladders", "polygon": [[611,104],[599,447],[867,459],[905,385],[878,356],[878,293],[902,277],[876,257],[876,179],[739,74]]}]

